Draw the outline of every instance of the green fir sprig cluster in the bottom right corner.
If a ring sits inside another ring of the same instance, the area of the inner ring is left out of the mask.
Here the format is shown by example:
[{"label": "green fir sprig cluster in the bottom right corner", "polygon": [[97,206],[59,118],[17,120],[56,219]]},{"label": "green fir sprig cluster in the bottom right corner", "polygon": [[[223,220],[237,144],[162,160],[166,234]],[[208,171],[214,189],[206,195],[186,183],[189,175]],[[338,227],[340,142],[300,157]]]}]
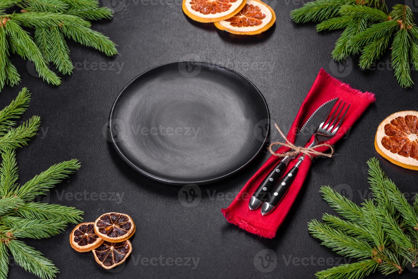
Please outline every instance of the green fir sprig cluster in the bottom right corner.
[{"label": "green fir sprig cluster in the bottom right corner", "polygon": [[322,245],[359,261],[319,271],[318,279],[361,279],[377,270],[402,273],[418,264],[418,199],[411,205],[376,158],[367,164],[373,198],[361,206],[329,186],[321,187],[324,200],[346,220],[325,213],[323,223],[308,223],[309,232]]}]

